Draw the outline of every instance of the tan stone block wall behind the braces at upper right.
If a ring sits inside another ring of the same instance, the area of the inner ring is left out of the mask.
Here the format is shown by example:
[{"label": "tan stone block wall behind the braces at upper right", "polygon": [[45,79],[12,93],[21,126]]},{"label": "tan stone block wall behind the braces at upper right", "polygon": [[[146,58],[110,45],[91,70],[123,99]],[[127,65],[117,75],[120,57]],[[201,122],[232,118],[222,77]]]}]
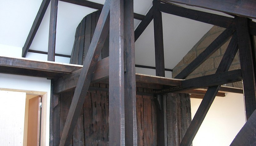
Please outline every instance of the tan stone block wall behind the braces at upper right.
[{"label": "tan stone block wall behind the braces at upper right", "polygon": [[[210,43],[221,34],[225,28],[213,26],[194,47],[183,57],[183,59],[175,66],[172,72],[174,78],[180,73],[190,62],[192,62],[201,52],[203,52]],[[213,55],[211,55],[203,64],[201,64],[196,70],[194,70],[186,79],[195,78],[204,75],[214,74],[219,66],[219,63],[226,51],[230,39],[224,43]],[[240,69],[239,55],[236,54],[234,61],[232,62],[229,71]],[[235,82],[226,84],[227,86],[242,88],[242,82]]]}]

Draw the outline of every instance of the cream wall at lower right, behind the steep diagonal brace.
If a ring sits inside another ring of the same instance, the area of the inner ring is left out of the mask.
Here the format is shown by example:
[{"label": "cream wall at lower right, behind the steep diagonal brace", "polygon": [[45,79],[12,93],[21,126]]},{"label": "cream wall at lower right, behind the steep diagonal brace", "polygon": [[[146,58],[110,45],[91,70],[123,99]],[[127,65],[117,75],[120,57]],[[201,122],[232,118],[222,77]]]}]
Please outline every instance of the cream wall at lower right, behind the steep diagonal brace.
[{"label": "cream wall at lower right, behind the steep diagonal brace", "polygon": [[[202,99],[191,98],[191,116],[194,117]],[[216,97],[200,126],[193,146],[230,145],[245,123],[243,94],[226,93]]]}]

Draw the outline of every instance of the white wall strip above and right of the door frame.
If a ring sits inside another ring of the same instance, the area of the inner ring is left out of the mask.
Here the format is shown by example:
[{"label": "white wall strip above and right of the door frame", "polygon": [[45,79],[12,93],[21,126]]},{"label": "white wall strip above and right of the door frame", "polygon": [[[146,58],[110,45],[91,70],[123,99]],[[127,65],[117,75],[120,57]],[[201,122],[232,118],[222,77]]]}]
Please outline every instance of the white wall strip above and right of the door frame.
[{"label": "white wall strip above and right of the door frame", "polygon": [[0,73],[0,88],[47,92],[46,145],[49,145],[51,80],[46,78]]}]

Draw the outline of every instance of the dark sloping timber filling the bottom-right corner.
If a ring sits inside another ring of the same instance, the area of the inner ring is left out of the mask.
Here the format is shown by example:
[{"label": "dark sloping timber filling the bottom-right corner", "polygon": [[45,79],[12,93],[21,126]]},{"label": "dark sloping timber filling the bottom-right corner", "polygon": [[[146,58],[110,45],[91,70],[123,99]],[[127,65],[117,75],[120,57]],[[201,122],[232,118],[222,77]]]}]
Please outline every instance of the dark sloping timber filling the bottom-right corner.
[{"label": "dark sloping timber filling the bottom-right corner", "polygon": [[238,132],[230,146],[237,146],[237,145],[248,145],[254,146],[256,145],[256,110],[244,124],[242,129]]}]

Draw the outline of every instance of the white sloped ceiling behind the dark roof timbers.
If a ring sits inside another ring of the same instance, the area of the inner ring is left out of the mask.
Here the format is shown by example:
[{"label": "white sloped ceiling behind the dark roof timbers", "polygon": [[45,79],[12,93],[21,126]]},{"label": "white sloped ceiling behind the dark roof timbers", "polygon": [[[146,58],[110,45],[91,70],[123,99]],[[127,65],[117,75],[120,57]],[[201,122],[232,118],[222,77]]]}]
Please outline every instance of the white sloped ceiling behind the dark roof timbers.
[{"label": "white sloped ceiling behind the dark roof timbers", "polygon": [[[105,2],[105,0],[91,1],[101,4]],[[0,44],[23,47],[41,2],[42,0],[0,0]],[[145,15],[151,6],[152,0],[134,0],[135,13]],[[190,8],[205,11],[202,8]],[[96,10],[59,1],[56,53],[71,54],[77,25],[84,16],[93,11]],[[49,17],[50,6],[46,11],[30,49],[47,52]],[[212,25],[165,13],[162,13],[162,17],[165,68],[172,69]],[[137,27],[139,22],[140,21],[135,20],[135,27]],[[139,65],[155,66],[153,21],[135,42],[135,63]]]}]

